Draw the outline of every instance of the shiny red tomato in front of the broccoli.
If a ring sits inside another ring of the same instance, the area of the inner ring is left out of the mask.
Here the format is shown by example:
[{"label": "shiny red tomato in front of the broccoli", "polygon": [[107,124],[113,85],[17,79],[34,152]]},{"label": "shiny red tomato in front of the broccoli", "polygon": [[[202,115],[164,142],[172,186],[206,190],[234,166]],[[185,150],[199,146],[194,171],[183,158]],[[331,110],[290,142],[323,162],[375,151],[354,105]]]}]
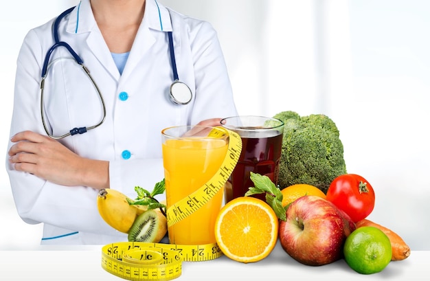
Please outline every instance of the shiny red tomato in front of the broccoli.
[{"label": "shiny red tomato in front of the broccoli", "polygon": [[375,193],[370,183],[354,174],[334,179],[328,187],[326,199],[346,212],[354,223],[366,218],[375,205]]}]

